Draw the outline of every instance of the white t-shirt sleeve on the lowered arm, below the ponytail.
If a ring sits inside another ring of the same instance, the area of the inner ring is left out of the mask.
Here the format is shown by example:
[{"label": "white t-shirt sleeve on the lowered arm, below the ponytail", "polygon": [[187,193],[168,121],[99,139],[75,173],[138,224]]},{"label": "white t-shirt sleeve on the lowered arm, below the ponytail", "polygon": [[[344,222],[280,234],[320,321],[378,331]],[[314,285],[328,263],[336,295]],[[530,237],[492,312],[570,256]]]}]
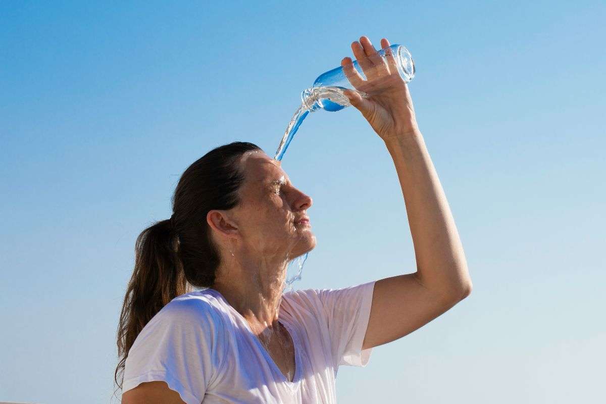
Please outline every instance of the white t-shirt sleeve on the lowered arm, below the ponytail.
[{"label": "white t-shirt sleeve on the lowered arm, below the ponytail", "polygon": [[125,362],[122,391],[163,380],[187,404],[200,404],[221,367],[222,322],[210,303],[172,300],[145,325]]}]

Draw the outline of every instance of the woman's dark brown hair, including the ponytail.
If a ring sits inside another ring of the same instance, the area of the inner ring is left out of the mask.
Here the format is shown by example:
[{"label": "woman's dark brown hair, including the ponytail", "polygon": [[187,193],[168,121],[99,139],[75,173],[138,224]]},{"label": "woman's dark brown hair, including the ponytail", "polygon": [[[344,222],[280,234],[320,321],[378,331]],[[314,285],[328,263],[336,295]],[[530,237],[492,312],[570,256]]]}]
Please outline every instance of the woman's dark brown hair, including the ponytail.
[{"label": "woman's dark brown hair, including the ponytail", "polygon": [[214,285],[221,259],[206,216],[210,210],[228,210],[240,203],[238,189],[244,173],[239,170],[239,162],[242,154],[254,150],[262,151],[252,143],[233,142],[193,162],[173,193],[173,216],[156,222],[137,237],[135,269],[118,325],[120,360],[114,380],[120,389],[128,351],[151,317],[170,300],[191,291],[191,286]]}]

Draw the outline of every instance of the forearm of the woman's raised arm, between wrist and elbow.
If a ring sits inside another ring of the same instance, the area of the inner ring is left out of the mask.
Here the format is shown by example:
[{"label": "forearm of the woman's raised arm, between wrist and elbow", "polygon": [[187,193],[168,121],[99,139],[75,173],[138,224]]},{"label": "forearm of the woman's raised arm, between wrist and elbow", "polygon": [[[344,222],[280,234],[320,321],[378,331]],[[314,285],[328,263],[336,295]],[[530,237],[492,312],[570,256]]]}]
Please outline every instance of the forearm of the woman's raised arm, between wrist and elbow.
[{"label": "forearm of the woman's raised arm, between wrist and elbow", "polygon": [[402,187],[419,282],[443,296],[467,296],[467,260],[421,132],[390,137],[385,145]]}]

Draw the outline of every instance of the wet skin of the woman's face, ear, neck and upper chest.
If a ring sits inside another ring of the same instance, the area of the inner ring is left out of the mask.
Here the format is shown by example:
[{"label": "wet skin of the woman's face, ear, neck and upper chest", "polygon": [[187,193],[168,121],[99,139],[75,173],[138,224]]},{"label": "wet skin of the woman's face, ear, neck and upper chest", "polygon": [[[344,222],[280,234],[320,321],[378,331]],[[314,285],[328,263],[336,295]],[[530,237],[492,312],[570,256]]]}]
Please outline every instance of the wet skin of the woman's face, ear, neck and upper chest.
[{"label": "wet skin of the woman's face, ear, neck and upper chest", "polygon": [[[293,340],[278,322],[288,262],[312,250],[307,217],[311,197],[291,184],[281,162],[262,152],[241,159],[241,203],[210,211],[208,224],[224,257],[215,286],[250,325],[284,377],[295,374]],[[233,256],[232,256],[233,254]]]}]

